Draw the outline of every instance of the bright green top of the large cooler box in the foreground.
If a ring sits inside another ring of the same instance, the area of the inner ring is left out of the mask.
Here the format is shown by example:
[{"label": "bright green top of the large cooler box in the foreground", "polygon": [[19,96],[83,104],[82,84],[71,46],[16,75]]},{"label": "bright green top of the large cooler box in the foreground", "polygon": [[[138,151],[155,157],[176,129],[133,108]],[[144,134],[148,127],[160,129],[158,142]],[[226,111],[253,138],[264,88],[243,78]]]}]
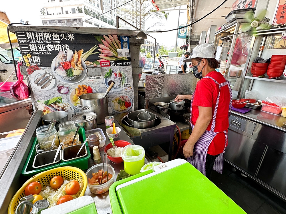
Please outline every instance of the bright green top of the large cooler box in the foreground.
[{"label": "bright green top of the large cooler box in the foreground", "polygon": [[245,214],[190,163],[122,187],[116,195],[124,214]]}]

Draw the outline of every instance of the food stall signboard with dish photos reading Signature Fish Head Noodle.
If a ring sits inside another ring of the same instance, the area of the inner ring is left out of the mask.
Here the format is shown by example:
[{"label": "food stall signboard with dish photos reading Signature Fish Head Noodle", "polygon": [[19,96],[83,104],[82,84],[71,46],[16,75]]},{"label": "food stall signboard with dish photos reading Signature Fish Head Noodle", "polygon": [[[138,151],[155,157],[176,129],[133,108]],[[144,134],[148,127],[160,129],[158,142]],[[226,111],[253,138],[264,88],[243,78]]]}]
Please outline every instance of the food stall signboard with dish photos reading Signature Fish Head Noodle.
[{"label": "food stall signboard with dish photos reading Signature Fish Head Noodle", "polygon": [[81,112],[78,97],[104,93],[109,114],[134,110],[129,37],[64,32],[16,31],[31,90],[44,114]]}]

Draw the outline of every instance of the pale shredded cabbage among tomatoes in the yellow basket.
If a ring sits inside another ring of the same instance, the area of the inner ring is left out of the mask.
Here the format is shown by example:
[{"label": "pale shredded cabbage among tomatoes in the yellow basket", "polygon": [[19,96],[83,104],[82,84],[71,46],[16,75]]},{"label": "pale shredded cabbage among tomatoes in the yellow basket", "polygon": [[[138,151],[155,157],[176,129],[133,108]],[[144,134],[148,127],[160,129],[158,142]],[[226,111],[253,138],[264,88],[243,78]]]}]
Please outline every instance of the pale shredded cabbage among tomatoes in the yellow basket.
[{"label": "pale shredded cabbage among tomatoes in the yellow basket", "polygon": [[[50,203],[49,207],[54,207],[55,205],[57,205],[57,201],[60,199],[60,197],[66,195],[65,187],[70,181],[73,181],[73,180],[72,179],[64,180],[63,184],[61,185],[59,189],[52,189],[49,185],[46,185],[46,187],[42,189],[39,195],[41,195],[43,199],[46,199],[47,201],[49,201]],[[83,182],[79,181],[79,184],[80,184],[80,190],[78,191],[78,193],[76,195],[71,195],[73,199],[79,197],[80,193],[82,192],[82,189],[84,187]]]}]

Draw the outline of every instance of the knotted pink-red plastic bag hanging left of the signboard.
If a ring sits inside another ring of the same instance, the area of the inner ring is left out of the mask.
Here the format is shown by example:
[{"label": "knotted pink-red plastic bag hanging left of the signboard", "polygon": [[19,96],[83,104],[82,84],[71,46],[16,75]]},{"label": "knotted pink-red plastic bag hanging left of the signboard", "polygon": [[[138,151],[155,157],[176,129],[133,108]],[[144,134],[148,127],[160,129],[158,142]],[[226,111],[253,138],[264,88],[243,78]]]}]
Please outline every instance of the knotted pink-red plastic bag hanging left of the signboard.
[{"label": "knotted pink-red plastic bag hanging left of the signboard", "polygon": [[20,71],[20,65],[22,65],[22,62],[21,63],[18,62],[18,64],[17,64],[17,78],[18,78],[18,80],[13,85],[11,85],[10,93],[16,99],[24,100],[30,96],[31,90],[26,85],[26,83],[23,82],[23,75],[21,74],[21,71]]}]

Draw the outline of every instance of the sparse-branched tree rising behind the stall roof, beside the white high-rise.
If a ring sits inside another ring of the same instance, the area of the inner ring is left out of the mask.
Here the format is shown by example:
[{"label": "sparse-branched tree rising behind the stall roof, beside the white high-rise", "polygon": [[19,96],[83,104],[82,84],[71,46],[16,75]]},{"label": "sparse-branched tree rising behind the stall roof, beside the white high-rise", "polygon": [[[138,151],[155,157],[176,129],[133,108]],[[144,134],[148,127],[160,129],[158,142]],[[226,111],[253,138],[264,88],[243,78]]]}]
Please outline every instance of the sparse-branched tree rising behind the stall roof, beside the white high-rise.
[{"label": "sparse-branched tree rising behind the stall roof, beside the white high-rise", "polygon": [[[126,4],[130,9],[121,9],[122,12],[126,13],[135,20],[135,26],[140,30],[148,30],[156,25],[161,25],[160,21],[153,23],[148,28],[145,26],[148,19],[157,17],[158,19],[168,19],[169,13],[165,11],[157,11],[149,0],[136,0]],[[130,21],[130,18],[126,18],[126,21]]]}]

